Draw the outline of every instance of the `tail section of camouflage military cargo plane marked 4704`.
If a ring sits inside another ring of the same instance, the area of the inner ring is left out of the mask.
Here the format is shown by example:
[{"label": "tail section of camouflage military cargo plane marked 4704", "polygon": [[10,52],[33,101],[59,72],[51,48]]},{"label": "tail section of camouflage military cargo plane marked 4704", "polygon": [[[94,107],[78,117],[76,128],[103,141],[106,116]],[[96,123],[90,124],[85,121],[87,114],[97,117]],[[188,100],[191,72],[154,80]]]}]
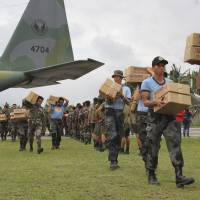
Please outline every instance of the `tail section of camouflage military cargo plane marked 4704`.
[{"label": "tail section of camouflage military cargo plane marked 4704", "polygon": [[64,0],[30,0],[0,58],[0,91],[59,84],[102,65],[74,61]]}]

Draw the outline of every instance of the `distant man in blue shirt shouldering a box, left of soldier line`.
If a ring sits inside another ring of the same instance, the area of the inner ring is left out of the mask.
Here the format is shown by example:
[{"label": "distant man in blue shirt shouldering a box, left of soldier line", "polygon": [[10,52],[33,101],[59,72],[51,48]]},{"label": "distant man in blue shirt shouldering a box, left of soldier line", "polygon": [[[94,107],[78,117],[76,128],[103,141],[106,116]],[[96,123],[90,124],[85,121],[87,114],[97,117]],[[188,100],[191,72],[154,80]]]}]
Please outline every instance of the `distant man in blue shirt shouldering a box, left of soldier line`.
[{"label": "distant man in blue shirt shouldering a box, left of soldier line", "polygon": [[52,147],[51,149],[59,149],[61,135],[63,133],[63,115],[65,111],[65,106],[67,106],[68,100],[60,97],[56,105],[51,105],[49,107],[49,112],[51,114],[51,135],[52,135]]}]

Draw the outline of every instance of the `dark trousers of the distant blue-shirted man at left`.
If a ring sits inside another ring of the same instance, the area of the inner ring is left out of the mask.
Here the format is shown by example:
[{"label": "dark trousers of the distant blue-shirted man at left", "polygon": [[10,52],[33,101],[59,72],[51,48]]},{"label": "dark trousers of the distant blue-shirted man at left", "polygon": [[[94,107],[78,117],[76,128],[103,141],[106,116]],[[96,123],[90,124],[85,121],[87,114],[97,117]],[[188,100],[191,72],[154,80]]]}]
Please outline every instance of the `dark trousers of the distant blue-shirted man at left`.
[{"label": "dark trousers of the distant blue-shirted man at left", "polygon": [[63,133],[63,123],[61,119],[51,119],[52,147],[58,148]]}]

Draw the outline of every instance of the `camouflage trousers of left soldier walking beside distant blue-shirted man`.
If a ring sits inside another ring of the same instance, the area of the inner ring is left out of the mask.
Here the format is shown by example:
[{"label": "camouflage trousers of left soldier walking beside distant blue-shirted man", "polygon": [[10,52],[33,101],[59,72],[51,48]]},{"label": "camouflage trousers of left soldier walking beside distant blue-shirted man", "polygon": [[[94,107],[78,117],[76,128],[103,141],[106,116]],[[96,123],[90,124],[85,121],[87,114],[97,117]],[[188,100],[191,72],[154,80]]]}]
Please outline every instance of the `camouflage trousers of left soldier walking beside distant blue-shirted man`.
[{"label": "camouflage trousers of left soldier walking beside distant blue-shirted man", "polygon": [[37,149],[41,148],[41,136],[43,127],[40,124],[28,124],[28,140],[30,147],[33,147],[34,136],[37,141]]}]

